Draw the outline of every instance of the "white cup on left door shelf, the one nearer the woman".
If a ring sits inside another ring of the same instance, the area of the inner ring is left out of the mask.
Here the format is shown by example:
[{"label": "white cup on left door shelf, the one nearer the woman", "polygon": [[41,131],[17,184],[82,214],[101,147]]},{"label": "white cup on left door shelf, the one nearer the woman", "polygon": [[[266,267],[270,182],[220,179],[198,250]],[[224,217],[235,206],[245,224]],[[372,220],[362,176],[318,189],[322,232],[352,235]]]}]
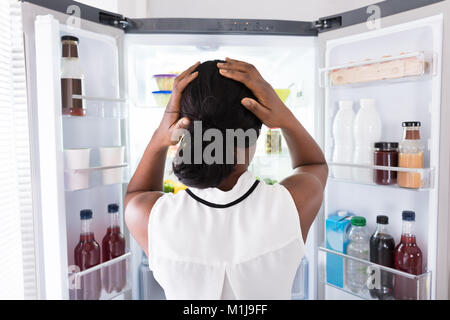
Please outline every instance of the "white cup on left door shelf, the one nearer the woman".
[{"label": "white cup on left door shelf, the one nearer the woman", "polygon": [[[102,147],[99,148],[100,165],[117,166],[123,164],[125,148],[121,147]],[[105,169],[103,174],[103,184],[122,183],[122,168]]]}]

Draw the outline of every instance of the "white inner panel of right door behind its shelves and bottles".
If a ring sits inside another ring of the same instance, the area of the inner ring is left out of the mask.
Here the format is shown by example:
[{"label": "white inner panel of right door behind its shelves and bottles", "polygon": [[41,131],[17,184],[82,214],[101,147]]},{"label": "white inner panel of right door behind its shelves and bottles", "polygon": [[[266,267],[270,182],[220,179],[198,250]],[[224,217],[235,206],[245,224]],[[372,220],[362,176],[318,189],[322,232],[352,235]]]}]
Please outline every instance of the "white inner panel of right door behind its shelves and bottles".
[{"label": "white inner panel of right door behind its shelves and bottles", "polygon": [[[389,229],[396,244],[402,231],[402,210],[416,212],[416,237],[424,256],[425,270],[435,272],[437,223],[437,172],[439,165],[440,64],[442,52],[442,16],[434,16],[405,24],[369,31],[363,34],[327,40],[325,69],[350,62],[377,59],[387,55],[427,52],[434,57],[430,75],[406,81],[381,80],[357,86],[326,86],[325,88],[325,154],[331,161],[333,152],[332,125],[340,100],[354,101],[355,114],[359,99],[376,99],[382,120],[380,141],[402,140],[403,121],[420,121],[425,145],[424,165],[430,168],[430,185],[421,189],[363,184],[330,177],[324,199],[324,219],[330,213],[347,210],[367,220],[369,234],[376,227],[376,216],[389,217]],[[330,172],[333,166],[330,166]],[[323,226],[325,228],[325,226]],[[324,234],[326,232],[324,231]],[[322,239],[321,239],[322,241]],[[322,261],[321,263],[325,263]],[[353,295],[326,284],[326,299],[353,299]],[[435,277],[431,275],[431,298],[434,298]]]}]

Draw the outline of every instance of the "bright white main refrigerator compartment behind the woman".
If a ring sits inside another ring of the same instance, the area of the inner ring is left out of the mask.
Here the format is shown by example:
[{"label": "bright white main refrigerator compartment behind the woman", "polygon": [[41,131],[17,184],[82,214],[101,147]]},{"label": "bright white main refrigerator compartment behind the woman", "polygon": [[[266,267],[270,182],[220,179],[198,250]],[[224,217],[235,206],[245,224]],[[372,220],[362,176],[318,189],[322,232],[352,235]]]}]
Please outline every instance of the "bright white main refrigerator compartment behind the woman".
[{"label": "bright white main refrigerator compartment behind the woman", "polygon": [[[158,86],[154,74],[177,73],[196,61],[233,59],[248,61],[256,66],[274,88],[289,88],[287,106],[314,136],[315,56],[316,38],[287,36],[242,35],[133,35],[125,36],[126,74],[130,102],[130,169],[133,172],[157,128],[164,107],[158,107],[152,95]],[[286,143],[281,154],[267,155],[263,128],[258,139],[257,153],[251,170],[262,179],[280,181],[291,172]],[[165,178],[176,180],[171,173],[171,161],[166,162]],[[138,251],[132,243],[133,251]],[[309,262],[309,294],[315,297],[315,232],[307,241]],[[137,256],[135,255],[135,258]],[[134,259],[133,269],[139,261]],[[133,281],[137,288],[137,275]],[[137,298],[133,290],[133,297]]]}]

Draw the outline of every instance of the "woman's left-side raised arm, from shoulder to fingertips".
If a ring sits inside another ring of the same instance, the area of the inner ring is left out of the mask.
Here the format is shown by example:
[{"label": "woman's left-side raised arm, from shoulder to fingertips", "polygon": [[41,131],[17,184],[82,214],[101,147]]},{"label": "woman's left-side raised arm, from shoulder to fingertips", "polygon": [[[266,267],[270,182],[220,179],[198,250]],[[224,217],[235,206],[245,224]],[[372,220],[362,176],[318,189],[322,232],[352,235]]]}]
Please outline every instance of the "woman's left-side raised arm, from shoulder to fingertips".
[{"label": "woman's left-side raised arm, from shoulder to fingertips", "polygon": [[180,119],[181,93],[197,77],[198,72],[193,73],[193,71],[198,65],[199,62],[175,79],[163,119],[145,149],[125,195],[125,221],[128,230],[147,256],[148,220],[153,205],[163,195],[167,149],[178,142],[176,131],[186,128],[189,124],[188,118]]}]

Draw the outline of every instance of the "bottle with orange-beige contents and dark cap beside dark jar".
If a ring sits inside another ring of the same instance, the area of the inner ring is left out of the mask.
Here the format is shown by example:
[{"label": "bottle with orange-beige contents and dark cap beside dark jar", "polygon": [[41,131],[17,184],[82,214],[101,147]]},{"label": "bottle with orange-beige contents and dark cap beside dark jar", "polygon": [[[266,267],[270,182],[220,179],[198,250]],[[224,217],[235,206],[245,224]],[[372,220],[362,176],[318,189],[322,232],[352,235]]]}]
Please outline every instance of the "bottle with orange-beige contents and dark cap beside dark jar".
[{"label": "bottle with orange-beige contents and dark cap beside dark jar", "polygon": [[[408,121],[402,123],[403,141],[400,143],[398,165],[401,168],[424,167],[424,145],[420,140],[420,122]],[[420,172],[399,172],[397,175],[399,187],[418,189],[423,187]]]}]

